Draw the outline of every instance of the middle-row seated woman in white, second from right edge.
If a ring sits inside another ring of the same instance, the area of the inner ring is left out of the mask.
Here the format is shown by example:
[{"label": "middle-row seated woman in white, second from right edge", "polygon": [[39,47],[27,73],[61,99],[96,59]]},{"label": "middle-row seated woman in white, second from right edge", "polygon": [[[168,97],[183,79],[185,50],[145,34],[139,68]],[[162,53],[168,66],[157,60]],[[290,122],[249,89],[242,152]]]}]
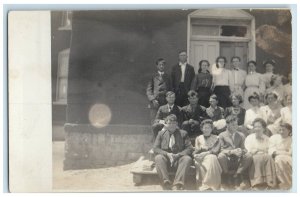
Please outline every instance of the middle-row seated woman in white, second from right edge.
[{"label": "middle-row seated woman in white, second from right edge", "polygon": [[282,105],[278,102],[278,95],[275,92],[266,93],[265,98],[267,105],[260,107],[260,116],[265,120],[268,130],[271,132],[267,135],[271,136],[279,131],[276,120],[281,116]]}]

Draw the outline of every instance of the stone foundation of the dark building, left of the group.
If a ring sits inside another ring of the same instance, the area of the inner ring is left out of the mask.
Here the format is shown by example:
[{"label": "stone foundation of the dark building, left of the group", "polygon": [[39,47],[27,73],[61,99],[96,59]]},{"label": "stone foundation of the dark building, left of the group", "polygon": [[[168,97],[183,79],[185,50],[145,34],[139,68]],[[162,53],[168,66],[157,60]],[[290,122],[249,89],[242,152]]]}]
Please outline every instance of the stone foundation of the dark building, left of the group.
[{"label": "stone foundation of the dark building, left of the group", "polygon": [[65,132],[64,170],[130,163],[152,148],[149,126],[65,124]]}]

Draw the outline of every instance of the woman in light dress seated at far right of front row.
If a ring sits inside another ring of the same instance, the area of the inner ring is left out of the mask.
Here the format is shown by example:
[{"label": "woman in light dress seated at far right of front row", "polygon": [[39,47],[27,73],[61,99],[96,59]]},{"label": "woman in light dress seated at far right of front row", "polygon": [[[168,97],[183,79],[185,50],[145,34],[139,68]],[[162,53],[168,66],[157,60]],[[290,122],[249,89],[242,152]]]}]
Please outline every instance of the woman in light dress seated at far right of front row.
[{"label": "woman in light dress seated at far right of front row", "polygon": [[290,189],[292,186],[292,126],[281,124],[279,134],[270,138],[269,154],[275,160],[276,176],[280,189]]}]

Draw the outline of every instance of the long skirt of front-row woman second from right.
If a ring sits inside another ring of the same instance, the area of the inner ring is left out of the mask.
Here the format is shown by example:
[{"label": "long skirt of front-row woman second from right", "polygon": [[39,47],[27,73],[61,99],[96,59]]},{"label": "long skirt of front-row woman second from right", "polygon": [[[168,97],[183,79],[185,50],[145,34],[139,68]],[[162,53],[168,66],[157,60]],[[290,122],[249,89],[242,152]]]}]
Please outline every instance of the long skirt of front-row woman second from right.
[{"label": "long skirt of front-row woman second from right", "polygon": [[253,155],[253,164],[249,169],[251,186],[266,183],[270,187],[276,186],[275,163],[270,155]]}]

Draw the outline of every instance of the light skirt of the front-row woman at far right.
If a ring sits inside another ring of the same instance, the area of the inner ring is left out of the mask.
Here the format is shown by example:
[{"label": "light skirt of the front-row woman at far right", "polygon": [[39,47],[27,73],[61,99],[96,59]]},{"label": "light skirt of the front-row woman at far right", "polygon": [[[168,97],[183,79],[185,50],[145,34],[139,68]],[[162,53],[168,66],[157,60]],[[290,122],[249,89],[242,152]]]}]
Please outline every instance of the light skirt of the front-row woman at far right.
[{"label": "light skirt of the front-row woman at far right", "polygon": [[289,155],[278,155],[275,157],[275,168],[279,187],[290,189],[292,186],[292,157]]}]

